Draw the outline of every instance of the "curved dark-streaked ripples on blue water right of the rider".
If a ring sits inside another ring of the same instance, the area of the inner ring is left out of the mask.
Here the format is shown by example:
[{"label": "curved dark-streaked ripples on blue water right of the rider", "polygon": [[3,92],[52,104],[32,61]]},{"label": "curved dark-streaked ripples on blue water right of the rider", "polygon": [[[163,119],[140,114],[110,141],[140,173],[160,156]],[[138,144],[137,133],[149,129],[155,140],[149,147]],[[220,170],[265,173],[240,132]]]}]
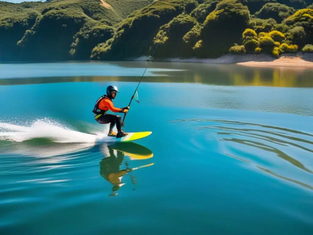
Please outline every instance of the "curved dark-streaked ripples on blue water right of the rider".
[{"label": "curved dark-streaked ripples on blue water right of the rider", "polygon": [[[204,131],[204,136],[209,134],[208,138],[212,139],[214,136],[225,156],[253,165],[263,173],[280,180],[313,190],[311,133],[228,120],[183,119],[172,122],[182,121],[194,123],[193,128]],[[203,123],[212,124],[203,125]],[[192,142],[194,141],[195,139]],[[198,142],[201,141],[198,139]]]}]

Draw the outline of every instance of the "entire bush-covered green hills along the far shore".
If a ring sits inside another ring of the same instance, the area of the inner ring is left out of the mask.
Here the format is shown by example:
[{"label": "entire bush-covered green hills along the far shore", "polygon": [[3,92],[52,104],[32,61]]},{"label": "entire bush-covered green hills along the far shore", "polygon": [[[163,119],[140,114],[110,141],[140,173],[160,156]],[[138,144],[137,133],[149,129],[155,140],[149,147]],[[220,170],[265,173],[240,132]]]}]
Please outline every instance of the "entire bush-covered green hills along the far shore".
[{"label": "entire bush-covered green hills along the far shore", "polygon": [[313,52],[312,0],[0,2],[0,61]]}]

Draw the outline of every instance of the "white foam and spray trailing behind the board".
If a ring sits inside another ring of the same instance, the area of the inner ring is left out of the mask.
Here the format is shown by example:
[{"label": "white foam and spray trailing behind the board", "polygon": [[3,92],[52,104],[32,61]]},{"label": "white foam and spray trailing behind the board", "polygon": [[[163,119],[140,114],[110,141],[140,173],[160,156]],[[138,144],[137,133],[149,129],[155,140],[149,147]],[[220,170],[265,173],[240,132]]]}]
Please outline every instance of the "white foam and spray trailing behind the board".
[{"label": "white foam and spray trailing behind the board", "polygon": [[106,142],[107,133],[82,133],[49,119],[35,120],[30,125],[15,125],[0,122],[0,140],[23,142],[35,138],[47,138],[56,143]]}]

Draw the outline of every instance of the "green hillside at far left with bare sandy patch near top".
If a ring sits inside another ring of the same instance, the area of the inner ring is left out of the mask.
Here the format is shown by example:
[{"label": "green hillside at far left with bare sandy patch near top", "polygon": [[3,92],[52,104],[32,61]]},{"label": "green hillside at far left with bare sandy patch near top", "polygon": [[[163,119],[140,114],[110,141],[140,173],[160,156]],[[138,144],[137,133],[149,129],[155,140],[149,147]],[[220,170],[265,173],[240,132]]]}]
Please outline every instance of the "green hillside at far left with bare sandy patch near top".
[{"label": "green hillside at far left with bare sandy patch near top", "polygon": [[[0,2],[0,61],[90,59],[116,24],[152,0]],[[123,6],[123,7],[121,7]]]}]

